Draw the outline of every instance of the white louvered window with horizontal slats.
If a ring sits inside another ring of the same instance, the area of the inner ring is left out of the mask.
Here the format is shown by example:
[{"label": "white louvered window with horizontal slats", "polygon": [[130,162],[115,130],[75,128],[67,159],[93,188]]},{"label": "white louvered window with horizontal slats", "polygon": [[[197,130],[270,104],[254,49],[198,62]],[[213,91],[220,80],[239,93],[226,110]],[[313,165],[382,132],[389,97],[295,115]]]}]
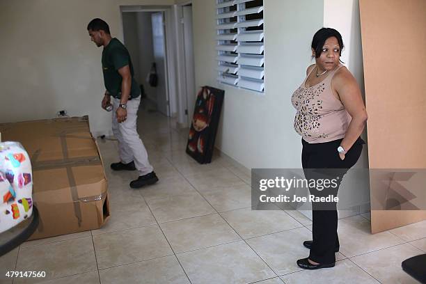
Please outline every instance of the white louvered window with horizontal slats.
[{"label": "white louvered window with horizontal slats", "polygon": [[217,80],[265,89],[263,0],[216,0]]}]

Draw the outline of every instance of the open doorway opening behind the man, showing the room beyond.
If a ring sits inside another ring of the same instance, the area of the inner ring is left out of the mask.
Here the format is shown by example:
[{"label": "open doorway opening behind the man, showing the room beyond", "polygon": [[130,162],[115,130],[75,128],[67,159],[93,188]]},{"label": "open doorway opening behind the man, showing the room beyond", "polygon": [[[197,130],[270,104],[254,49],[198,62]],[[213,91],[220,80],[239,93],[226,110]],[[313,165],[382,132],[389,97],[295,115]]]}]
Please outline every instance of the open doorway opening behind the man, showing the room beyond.
[{"label": "open doorway opening behind the man, showing the room beyond", "polygon": [[[134,77],[140,84],[143,99],[152,109],[171,116],[168,80],[168,47],[166,46],[166,11],[121,7],[123,40],[134,66]],[[156,77],[155,80],[150,77]]]}]

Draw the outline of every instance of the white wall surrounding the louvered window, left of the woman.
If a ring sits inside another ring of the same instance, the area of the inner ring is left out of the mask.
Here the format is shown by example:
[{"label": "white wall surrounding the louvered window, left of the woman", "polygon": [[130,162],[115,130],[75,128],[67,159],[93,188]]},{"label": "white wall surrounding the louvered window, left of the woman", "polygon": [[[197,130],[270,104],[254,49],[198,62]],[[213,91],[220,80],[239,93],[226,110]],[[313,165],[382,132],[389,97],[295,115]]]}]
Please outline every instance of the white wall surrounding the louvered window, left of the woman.
[{"label": "white wall surrounding the louvered window, left of the woman", "polygon": [[323,1],[265,0],[265,95],[216,82],[215,1],[193,2],[196,86],[223,88],[216,146],[247,168],[301,167],[293,91],[306,77],[310,42],[323,24]]}]

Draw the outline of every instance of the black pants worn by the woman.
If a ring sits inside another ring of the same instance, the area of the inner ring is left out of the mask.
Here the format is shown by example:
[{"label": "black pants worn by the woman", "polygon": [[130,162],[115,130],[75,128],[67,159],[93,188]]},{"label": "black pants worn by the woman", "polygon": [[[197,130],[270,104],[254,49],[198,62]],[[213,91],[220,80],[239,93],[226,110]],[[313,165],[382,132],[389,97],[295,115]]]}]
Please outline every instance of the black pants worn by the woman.
[{"label": "black pants worn by the woman", "polygon": [[[338,177],[336,189],[309,188],[314,196],[337,196],[338,187],[349,168],[352,168],[363,150],[365,142],[358,138],[352,148],[347,151],[345,159],[339,157],[338,146],[342,139],[326,143],[307,143],[302,139],[302,166],[307,180]],[[336,203],[313,203],[313,245],[310,249],[309,259],[321,264],[336,262],[335,250],[339,248],[337,233],[338,214]]]}]

